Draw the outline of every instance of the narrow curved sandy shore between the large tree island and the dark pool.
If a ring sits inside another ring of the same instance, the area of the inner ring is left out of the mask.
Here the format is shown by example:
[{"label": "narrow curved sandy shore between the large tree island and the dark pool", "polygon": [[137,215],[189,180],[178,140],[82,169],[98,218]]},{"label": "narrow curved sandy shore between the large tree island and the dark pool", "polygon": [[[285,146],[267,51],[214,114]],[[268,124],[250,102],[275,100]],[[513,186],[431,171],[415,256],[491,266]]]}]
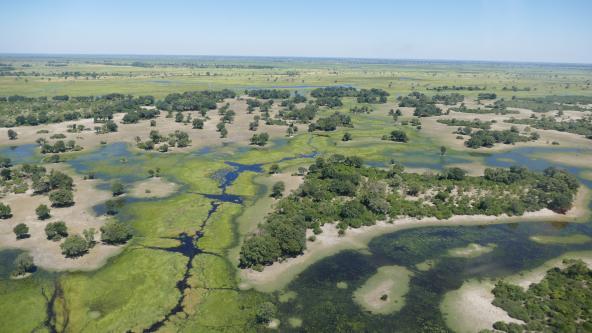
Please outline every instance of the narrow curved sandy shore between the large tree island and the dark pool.
[{"label": "narrow curved sandy shore between the large tree island and the dark pool", "polygon": [[[508,222],[540,221],[576,221],[589,215],[588,190],[581,187],[575,200],[574,207],[567,214],[557,214],[549,209],[542,209],[537,212],[528,212],[523,216],[486,216],[486,215],[462,215],[454,216],[447,220],[436,218],[402,218],[393,221],[379,221],[373,226],[363,226],[358,229],[348,229],[344,236],[338,235],[335,224],[327,223],[322,226],[323,232],[316,235],[314,242],[307,243],[307,249],[300,256],[288,258],[282,262],[266,266],[263,271],[258,272],[252,269],[244,269],[240,272],[241,288],[255,288],[263,292],[271,292],[285,287],[298,274],[303,272],[313,263],[332,256],[346,249],[365,250],[368,242],[379,235],[399,230],[429,227],[429,226],[452,226],[452,225],[487,225]],[[307,237],[312,231],[307,231]]]}]

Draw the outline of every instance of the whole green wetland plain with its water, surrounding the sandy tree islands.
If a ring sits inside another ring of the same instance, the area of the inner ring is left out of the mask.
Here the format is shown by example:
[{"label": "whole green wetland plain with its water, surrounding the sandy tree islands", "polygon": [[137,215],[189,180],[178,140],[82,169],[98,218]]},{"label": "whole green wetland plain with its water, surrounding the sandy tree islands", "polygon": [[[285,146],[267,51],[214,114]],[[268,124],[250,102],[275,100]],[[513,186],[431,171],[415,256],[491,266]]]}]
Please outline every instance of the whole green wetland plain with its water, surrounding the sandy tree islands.
[{"label": "whole green wetland plain with its water, surrounding the sandy tree islands", "polygon": [[[464,282],[503,279],[568,252],[592,251],[588,217],[541,222],[535,216],[487,225],[436,222],[386,232],[367,244],[320,256],[298,268],[298,273],[278,276],[286,280],[277,288],[247,288],[249,281],[239,267],[245,238],[278,202],[270,197],[274,164],[281,175],[297,173],[317,157],[333,154],[358,156],[374,168],[389,168],[396,161],[406,170],[422,173],[453,166],[464,166],[471,174],[484,167],[520,165],[542,171],[556,166],[590,188],[592,164],[571,160],[576,153],[592,158],[592,145],[574,146],[566,139],[559,145],[518,143],[489,151],[455,146],[443,153],[437,133],[393,122],[389,114],[398,108],[397,97],[414,91],[428,96],[454,92],[464,95],[465,101],[484,92],[506,101],[591,97],[589,66],[93,56],[3,56],[0,62],[23,72],[0,76],[2,96],[122,93],[162,99],[184,91],[230,89],[243,94],[245,89],[267,88],[309,97],[312,89],[328,86],[389,93],[386,103],[370,104],[374,109],[370,113],[350,112],[354,106],[367,105],[353,97],[318,111],[318,118],[335,111],[347,113],[353,127],[326,132],[304,128],[292,136],[274,137],[263,147],[249,145],[248,140],[204,146],[193,142],[195,148],[159,153],[139,149],[129,140],[61,154],[61,164],[78,175],[93,173],[105,184],[119,181],[131,186],[158,169],[163,179],[178,186],[162,198],[129,198],[109,217],[131,226],[133,237],[98,269],[38,268],[30,276],[14,279],[13,262],[22,251],[0,244],[0,330],[4,332],[449,332],[449,323],[461,314],[443,311],[441,303]],[[444,88],[452,86],[483,89]],[[404,131],[408,142],[382,139],[393,130]],[[351,141],[343,141],[346,132]],[[3,136],[0,145],[0,156],[15,164],[43,159],[34,144],[11,147]],[[590,205],[585,199],[584,209]],[[94,214],[104,214],[105,209],[98,205]],[[263,267],[257,274],[265,273]],[[270,281],[274,285],[273,277]],[[372,300],[378,302],[378,310],[356,301],[364,297],[365,289],[376,292],[373,287],[381,284],[387,297]],[[380,302],[388,303],[386,308]],[[584,320],[590,320],[589,314]]]}]

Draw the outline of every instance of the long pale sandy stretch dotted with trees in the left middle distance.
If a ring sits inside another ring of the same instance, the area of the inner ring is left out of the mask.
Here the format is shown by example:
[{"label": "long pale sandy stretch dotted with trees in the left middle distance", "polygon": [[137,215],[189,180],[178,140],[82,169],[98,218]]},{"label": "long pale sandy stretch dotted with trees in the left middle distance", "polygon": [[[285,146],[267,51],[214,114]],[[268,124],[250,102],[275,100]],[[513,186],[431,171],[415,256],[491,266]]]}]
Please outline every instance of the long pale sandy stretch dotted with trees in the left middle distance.
[{"label": "long pale sandy stretch dotted with trees in the left middle distance", "polygon": [[[260,112],[255,111],[253,114],[248,114],[247,104],[244,100],[228,99],[225,100],[223,103],[219,103],[218,105],[223,106],[227,102],[230,104],[230,109],[236,112],[234,122],[232,124],[226,124],[226,128],[228,129],[227,138],[220,138],[220,133],[216,131],[216,124],[218,124],[221,118],[218,115],[217,110],[211,110],[208,112],[208,117],[210,117],[210,119],[205,121],[204,128],[201,130],[193,129],[191,123],[183,124],[175,122],[175,113],[173,113],[173,118],[166,118],[167,112],[163,111],[155,119],[155,127],[150,127],[150,120],[141,120],[136,124],[123,124],[121,123],[121,119],[123,118],[124,114],[116,114],[114,116],[114,121],[118,125],[118,131],[107,134],[95,134],[94,127],[100,126],[101,124],[95,124],[92,119],[81,119],[77,121],[67,121],[57,124],[47,124],[38,126],[14,127],[13,130],[15,130],[18,133],[18,138],[16,140],[11,141],[6,139],[6,132],[8,131],[8,129],[0,128],[0,145],[22,145],[28,143],[35,143],[35,140],[37,140],[38,138],[46,138],[49,140],[49,142],[54,142],[55,140],[51,140],[49,139],[49,137],[53,134],[62,133],[66,135],[66,138],[61,140],[75,140],[78,145],[88,150],[100,146],[101,141],[105,141],[107,143],[127,142],[131,143],[132,146],[135,146],[135,138],[140,137],[143,141],[146,141],[149,139],[149,134],[151,130],[158,130],[161,135],[165,136],[167,136],[169,133],[175,132],[175,130],[181,130],[187,132],[192,143],[189,147],[172,148],[171,150],[189,151],[198,147],[217,146],[222,145],[224,143],[237,143],[248,145],[250,138],[255,133],[266,132],[270,135],[270,138],[272,139],[286,136],[286,126],[266,125],[264,121],[259,121],[259,129],[256,132],[250,131],[249,123],[253,121],[253,117],[255,115],[260,115]],[[277,112],[278,106],[274,105],[274,108],[272,110],[275,110],[275,112]],[[191,113],[192,119],[201,118],[201,115],[199,115],[198,112],[183,112],[184,116],[186,116],[189,113]],[[274,113],[271,112],[271,114],[273,117]],[[68,125],[72,124],[84,125],[85,127],[91,130],[82,131],[80,133],[68,133]],[[49,133],[37,134],[39,130],[48,130]],[[304,131],[304,127],[299,128],[299,131],[301,130]]]}]

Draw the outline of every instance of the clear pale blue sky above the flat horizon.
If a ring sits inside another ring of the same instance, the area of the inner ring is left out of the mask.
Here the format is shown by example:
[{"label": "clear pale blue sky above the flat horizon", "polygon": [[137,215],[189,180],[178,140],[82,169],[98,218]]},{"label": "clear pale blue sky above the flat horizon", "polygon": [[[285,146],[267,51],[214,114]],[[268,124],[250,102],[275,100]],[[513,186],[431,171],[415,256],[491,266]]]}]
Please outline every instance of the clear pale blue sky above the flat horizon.
[{"label": "clear pale blue sky above the flat horizon", "polygon": [[0,0],[0,53],[592,63],[590,0]]}]

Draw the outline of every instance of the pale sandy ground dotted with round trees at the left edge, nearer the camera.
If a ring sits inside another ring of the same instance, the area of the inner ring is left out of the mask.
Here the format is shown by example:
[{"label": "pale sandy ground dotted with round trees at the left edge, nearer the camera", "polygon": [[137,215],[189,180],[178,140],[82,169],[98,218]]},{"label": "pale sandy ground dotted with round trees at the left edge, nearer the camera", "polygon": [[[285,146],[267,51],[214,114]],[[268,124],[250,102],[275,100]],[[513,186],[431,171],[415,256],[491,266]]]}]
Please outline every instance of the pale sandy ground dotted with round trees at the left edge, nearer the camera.
[{"label": "pale sandy ground dotted with round trees at the left edge, nearer the camera", "polygon": [[[0,249],[15,248],[29,251],[37,266],[52,271],[66,270],[94,270],[101,267],[109,257],[119,253],[121,246],[110,246],[97,242],[89,253],[76,258],[65,258],[61,253],[60,243],[47,240],[45,226],[49,222],[64,221],[68,226],[69,234],[81,234],[84,229],[95,228],[95,239],[100,240],[99,228],[106,219],[97,217],[92,207],[106,201],[111,197],[108,191],[96,188],[98,180],[82,180],[75,173],[67,170],[62,165],[47,166],[49,169],[60,169],[68,173],[75,184],[75,205],[65,208],[50,208],[51,218],[40,221],[35,214],[35,208],[39,204],[50,206],[48,196],[30,193],[12,194],[2,201],[12,208],[13,216],[0,222]],[[31,237],[16,240],[12,231],[14,226],[25,223],[29,227]]]}]

